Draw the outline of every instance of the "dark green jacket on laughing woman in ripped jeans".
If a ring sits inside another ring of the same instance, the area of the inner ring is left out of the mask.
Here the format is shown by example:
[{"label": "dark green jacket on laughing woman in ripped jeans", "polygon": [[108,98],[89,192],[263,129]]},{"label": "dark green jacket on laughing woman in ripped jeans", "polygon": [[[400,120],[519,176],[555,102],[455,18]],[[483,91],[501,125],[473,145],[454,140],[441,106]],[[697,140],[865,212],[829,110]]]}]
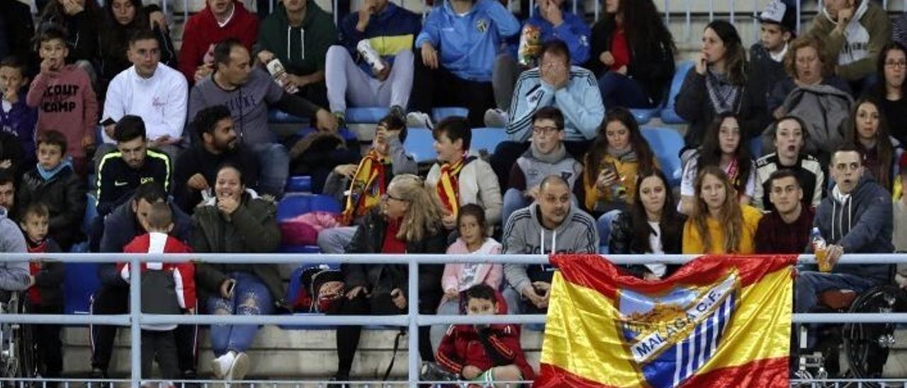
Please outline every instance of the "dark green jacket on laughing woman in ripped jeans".
[{"label": "dark green jacket on laughing woman in ripped jeans", "polygon": [[[274,218],[274,203],[249,194],[242,195],[242,204],[230,219],[224,218],[216,204],[195,209],[192,216],[192,250],[196,253],[269,253],[276,252],[280,244],[280,228]],[[258,276],[268,286],[275,304],[284,304],[283,283],[277,264],[209,264],[200,263],[195,270],[199,293],[219,295],[220,285],[231,272],[245,272]]]}]

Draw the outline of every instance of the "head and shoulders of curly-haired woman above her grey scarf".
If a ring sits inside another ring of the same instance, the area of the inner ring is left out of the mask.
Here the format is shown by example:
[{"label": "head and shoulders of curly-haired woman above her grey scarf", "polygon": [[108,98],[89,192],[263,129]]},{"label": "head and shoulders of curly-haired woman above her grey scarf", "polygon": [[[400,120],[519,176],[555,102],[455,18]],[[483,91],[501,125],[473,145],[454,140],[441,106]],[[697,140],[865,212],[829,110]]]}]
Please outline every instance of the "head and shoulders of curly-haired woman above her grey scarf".
[{"label": "head and shoulders of curly-haired woman above her grey scarf", "polygon": [[822,91],[831,87],[831,92],[851,93],[847,82],[834,74],[834,63],[825,55],[824,42],[809,35],[788,44],[785,72],[787,77],[775,83],[767,98],[768,111],[775,119],[791,114],[793,109],[785,106],[785,101],[795,89],[816,87]]}]

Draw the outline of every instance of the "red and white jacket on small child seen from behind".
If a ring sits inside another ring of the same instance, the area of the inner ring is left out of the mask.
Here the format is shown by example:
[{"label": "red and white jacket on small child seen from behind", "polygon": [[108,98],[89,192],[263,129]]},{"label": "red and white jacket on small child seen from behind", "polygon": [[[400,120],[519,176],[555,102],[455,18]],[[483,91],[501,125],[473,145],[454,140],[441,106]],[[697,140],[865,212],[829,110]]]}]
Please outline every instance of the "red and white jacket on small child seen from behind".
[{"label": "red and white jacket on small child seen from behind", "polygon": [[[191,253],[192,249],[180,240],[163,233],[145,233],[134,238],[125,247],[123,253]],[[171,271],[176,285],[177,301],[182,308],[195,308],[195,266],[192,263],[141,263],[141,271]],[[129,283],[129,263],[117,263],[117,271],[123,280]]]}]

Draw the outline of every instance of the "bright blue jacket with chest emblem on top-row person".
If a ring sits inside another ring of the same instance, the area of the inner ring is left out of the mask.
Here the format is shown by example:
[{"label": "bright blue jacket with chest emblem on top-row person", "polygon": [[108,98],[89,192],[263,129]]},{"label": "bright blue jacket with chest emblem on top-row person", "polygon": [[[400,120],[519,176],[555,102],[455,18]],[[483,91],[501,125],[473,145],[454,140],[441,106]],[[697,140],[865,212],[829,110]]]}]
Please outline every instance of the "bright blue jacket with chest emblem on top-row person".
[{"label": "bright blue jacket with chest emblem on top-row person", "polygon": [[490,82],[502,39],[519,32],[520,22],[495,0],[476,1],[466,15],[457,15],[445,0],[428,15],[415,48],[429,42],[440,52],[441,65],[457,77]]}]

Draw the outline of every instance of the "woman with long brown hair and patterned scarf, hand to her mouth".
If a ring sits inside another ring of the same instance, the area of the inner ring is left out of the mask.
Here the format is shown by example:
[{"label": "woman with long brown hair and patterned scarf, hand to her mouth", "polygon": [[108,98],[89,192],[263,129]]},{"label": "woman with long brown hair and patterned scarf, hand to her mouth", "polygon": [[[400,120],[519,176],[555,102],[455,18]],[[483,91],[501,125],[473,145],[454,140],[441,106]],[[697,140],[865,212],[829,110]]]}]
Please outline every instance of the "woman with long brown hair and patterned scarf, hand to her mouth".
[{"label": "woman with long brown hair and patterned scarf, hand to her mouth", "polygon": [[752,94],[746,82],[746,51],[736,28],[724,20],[709,23],[696,67],[687,73],[674,105],[678,115],[689,121],[684,135],[688,150],[702,143],[707,125],[723,113],[739,118],[742,132],[755,134],[766,127],[766,115],[755,111],[754,99],[760,96]]}]

